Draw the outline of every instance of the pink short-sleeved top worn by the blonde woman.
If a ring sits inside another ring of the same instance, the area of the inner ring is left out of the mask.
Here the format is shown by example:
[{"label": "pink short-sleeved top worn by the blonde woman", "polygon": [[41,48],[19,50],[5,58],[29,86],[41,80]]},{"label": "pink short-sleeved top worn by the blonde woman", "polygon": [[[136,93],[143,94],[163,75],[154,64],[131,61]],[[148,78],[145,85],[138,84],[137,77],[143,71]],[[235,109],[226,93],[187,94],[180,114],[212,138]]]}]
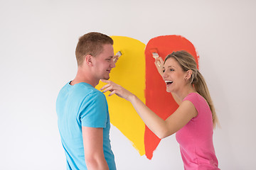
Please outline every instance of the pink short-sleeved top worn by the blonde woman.
[{"label": "pink short-sleeved top worn by the blonde woman", "polygon": [[184,169],[218,169],[213,147],[213,115],[208,103],[197,93],[188,94],[183,101],[191,101],[198,111],[195,118],[176,132]]}]

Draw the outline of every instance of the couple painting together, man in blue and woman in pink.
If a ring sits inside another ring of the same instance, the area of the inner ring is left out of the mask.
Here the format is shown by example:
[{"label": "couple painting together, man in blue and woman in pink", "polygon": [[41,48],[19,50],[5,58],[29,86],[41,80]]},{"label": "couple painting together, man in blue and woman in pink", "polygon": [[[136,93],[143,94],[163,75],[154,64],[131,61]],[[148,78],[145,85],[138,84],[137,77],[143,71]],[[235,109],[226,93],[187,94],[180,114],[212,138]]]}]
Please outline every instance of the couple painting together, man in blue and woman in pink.
[{"label": "couple painting together, man in blue and woman in pink", "polygon": [[102,33],[82,35],[75,50],[78,72],[58,94],[56,111],[67,169],[116,169],[110,145],[110,116],[105,95],[95,89],[100,80],[110,91],[130,101],[149,129],[159,138],[176,133],[184,169],[218,169],[213,128],[218,123],[206,83],[188,52],[178,51],[156,60],[178,109],[166,120],[152,112],[134,94],[114,84],[110,71],[118,57],[113,40]]}]

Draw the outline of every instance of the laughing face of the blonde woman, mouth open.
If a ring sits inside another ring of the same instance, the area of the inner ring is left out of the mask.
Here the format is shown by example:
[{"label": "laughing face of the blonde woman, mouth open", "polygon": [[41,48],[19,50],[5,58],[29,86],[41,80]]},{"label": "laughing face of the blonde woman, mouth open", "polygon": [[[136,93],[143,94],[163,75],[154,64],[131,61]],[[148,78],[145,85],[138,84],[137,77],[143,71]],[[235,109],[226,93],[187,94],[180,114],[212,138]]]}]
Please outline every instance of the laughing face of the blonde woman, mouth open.
[{"label": "laughing face of the blonde woman, mouth open", "polygon": [[186,85],[186,72],[181,69],[180,64],[174,58],[166,60],[163,72],[167,92],[177,93]]}]

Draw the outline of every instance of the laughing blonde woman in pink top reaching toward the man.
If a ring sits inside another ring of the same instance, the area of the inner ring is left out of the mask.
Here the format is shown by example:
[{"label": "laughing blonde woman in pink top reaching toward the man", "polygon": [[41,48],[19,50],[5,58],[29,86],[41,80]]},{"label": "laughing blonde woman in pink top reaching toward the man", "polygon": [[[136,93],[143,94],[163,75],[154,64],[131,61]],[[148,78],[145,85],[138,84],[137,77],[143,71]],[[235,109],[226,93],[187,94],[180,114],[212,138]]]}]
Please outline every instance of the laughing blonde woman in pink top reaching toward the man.
[{"label": "laughing blonde woman in pink top reaching toward the man", "polygon": [[149,129],[160,139],[173,135],[181,149],[185,169],[218,169],[218,159],[213,147],[213,128],[218,123],[213,102],[206,82],[196,67],[193,56],[186,51],[168,55],[162,66],[156,64],[166,82],[166,91],[173,94],[177,110],[162,120],[134,94],[112,81],[102,80],[107,85],[101,90],[111,91],[130,101]]}]

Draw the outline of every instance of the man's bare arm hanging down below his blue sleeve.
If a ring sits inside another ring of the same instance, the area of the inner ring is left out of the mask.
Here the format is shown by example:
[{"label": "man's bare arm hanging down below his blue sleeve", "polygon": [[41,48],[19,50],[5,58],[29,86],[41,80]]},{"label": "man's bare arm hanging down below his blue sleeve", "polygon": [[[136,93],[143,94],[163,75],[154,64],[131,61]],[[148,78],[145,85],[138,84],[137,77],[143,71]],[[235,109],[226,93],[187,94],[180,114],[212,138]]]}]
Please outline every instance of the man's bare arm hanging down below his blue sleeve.
[{"label": "man's bare arm hanging down below his blue sleeve", "polygon": [[103,152],[103,128],[82,126],[85,163],[88,170],[109,169]]}]

